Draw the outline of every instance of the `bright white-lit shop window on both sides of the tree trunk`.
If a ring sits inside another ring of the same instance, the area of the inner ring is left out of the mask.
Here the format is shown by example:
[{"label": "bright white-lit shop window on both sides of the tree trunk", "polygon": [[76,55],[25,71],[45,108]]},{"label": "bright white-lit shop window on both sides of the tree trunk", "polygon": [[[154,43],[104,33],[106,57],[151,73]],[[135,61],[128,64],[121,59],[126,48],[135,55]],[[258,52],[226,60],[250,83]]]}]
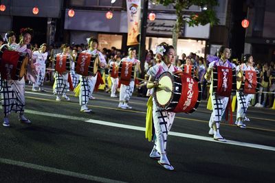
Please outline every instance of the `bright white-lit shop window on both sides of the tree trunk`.
[{"label": "bright white-lit shop window on both sides of the tree trunk", "polygon": [[[172,38],[146,38],[146,49],[151,49],[155,53],[157,45],[161,42],[166,42],[169,45],[173,44]],[[204,51],[206,48],[205,40],[195,40],[195,39],[179,39],[177,40],[177,56],[181,56],[182,53],[196,53],[198,56],[204,57]]]}]

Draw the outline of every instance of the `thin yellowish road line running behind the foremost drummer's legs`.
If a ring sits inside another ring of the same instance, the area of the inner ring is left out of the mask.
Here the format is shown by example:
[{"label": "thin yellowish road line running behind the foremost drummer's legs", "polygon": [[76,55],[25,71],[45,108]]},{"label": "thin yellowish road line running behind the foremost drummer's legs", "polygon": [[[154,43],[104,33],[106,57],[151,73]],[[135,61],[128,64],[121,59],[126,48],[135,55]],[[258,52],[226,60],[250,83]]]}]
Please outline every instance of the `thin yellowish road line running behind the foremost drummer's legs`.
[{"label": "thin yellowish road line running behind the foremost drummer's legs", "polygon": [[[68,104],[73,104],[73,105],[77,105],[79,106],[78,103],[74,103],[72,101],[56,101],[53,99],[40,99],[40,98],[36,98],[36,97],[25,97],[25,98],[29,98],[29,99],[38,99],[38,100],[42,100],[42,101],[51,101],[51,102],[57,102],[57,103],[68,103]],[[111,109],[111,110],[120,110],[122,112],[133,112],[133,113],[138,113],[138,114],[146,114],[146,112],[142,112],[142,111],[136,111],[136,110],[124,110],[124,109],[120,109],[120,108],[111,108],[111,107],[104,107],[104,106],[94,106],[94,105],[87,105],[89,107],[93,107],[93,108],[104,108],[104,109]],[[1,108],[1,106],[0,106]],[[201,119],[191,119],[191,118],[185,118],[185,117],[175,117],[175,119],[184,119],[187,121],[196,121],[196,122],[201,122],[201,123],[208,123],[208,121],[205,120],[201,120]],[[227,125],[227,126],[235,126],[235,125],[230,125],[227,123],[221,123],[221,125]],[[275,132],[275,130],[271,130],[271,129],[265,129],[265,128],[260,128],[260,127],[246,127],[248,129],[254,129],[254,130],[263,130],[263,131],[268,131],[268,132]]]}]

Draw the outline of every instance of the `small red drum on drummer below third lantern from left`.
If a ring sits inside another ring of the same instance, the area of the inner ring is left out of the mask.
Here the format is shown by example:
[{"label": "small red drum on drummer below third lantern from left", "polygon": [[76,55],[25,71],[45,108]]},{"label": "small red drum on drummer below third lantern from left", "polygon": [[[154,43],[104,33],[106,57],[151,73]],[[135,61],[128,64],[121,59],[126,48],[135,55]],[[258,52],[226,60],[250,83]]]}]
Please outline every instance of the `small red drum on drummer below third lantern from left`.
[{"label": "small red drum on drummer below third lantern from left", "polygon": [[69,72],[71,70],[71,61],[69,60],[69,57],[66,55],[56,55],[55,59],[55,67],[54,69],[59,74],[63,74],[65,72]]}]

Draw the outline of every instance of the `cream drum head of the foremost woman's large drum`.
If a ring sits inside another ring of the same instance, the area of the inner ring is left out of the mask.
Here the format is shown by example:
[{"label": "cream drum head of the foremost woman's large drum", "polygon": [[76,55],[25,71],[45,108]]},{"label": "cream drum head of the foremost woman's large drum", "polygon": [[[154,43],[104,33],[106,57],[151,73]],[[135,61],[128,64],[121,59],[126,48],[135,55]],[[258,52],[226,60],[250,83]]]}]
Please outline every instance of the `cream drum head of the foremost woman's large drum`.
[{"label": "cream drum head of the foremost woman's large drum", "polygon": [[[170,73],[163,73],[159,77],[159,84],[162,86],[167,86],[171,91],[173,91],[172,75]],[[168,105],[168,103],[170,103],[170,100],[172,99],[172,93],[157,88],[155,92],[155,99],[159,106],[165,107]]]}]

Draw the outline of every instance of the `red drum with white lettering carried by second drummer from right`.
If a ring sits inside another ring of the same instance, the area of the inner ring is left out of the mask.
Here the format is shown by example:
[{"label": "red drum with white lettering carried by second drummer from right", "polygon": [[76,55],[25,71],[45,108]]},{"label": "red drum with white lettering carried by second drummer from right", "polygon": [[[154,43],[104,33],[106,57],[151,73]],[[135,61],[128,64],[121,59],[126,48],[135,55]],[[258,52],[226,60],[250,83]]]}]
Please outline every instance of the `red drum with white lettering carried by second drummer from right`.
[{"label": "red drum with white lettering carried by second drummer from right", "polygon": [[231,93],[236,93],[236,69],[214,66],[212,74],[213,93],[223,97],[230,97]]}]

